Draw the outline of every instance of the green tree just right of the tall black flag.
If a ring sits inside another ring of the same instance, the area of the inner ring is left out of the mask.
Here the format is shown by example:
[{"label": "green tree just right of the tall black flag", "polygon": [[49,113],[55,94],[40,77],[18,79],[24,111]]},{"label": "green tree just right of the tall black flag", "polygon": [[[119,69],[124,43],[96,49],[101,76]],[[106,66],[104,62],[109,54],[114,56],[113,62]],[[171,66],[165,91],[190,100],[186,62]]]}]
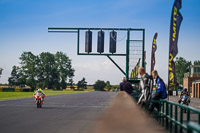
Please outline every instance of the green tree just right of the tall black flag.
[{"label": "green tree just right of the tall black flag", "polygon": [[184,74],[190,71],[191,61],[186,61],[183,57],[177,57],[175,61],[175,72],[177,82],[183,85]]}]

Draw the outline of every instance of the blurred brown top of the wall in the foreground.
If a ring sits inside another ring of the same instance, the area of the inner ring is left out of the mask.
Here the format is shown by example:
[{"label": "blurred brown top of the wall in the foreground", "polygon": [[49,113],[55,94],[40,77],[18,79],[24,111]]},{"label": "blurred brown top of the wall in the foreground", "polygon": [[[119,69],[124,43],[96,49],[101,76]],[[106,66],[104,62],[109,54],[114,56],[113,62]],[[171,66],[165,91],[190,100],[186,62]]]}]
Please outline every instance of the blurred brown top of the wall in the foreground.
[{"label": "blurred brown top of the wall in the foreground", "polygon": [[120,92],[94,126],[93,133],[167,133],[125,92]]}]

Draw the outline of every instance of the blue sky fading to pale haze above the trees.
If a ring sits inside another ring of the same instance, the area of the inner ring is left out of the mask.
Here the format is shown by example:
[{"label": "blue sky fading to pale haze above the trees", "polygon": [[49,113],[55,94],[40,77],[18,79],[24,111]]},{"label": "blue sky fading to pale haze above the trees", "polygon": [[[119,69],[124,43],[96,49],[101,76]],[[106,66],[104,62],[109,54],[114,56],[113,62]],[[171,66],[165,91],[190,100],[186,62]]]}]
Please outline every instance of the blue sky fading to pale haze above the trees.
[{"label": "blue sky fading to pale haze above the trees", "polygon": [[[158,32],[156,69],[167,82],[170,15],[174,0],[0,0],[0,83],[6,83],[23,51],[34,54],[62,51],[72,59],[74,80],[85,77],[118,84],[122,73],[106,58],[77,56],[76,36],[48,33],[48,27],[145,28],[147,71],[152,39]],[[200,60],[200,0],[182,0],[183,21],[179,53],[186,60]],[[119,45],[118,48],[124,48]],[[114,58],[125,68],[124,58]]]}]

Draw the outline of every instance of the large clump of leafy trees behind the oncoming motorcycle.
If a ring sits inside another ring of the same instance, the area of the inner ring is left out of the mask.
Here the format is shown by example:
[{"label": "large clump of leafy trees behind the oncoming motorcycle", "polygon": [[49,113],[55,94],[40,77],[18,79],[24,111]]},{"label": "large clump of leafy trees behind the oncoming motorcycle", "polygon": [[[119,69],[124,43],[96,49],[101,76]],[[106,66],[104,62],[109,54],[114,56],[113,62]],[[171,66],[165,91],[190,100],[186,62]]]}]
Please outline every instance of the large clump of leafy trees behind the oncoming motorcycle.
[{"label": "large clump of leafy trees behind the oncoming motorcycle", "polygon": [[28,85],[32,90],[39,88],[64,89],[67,79],[73,78],[71,59],[63,52],[42,52],[34,55],[23,52],[19,66],[13,66],[9,85]]}]

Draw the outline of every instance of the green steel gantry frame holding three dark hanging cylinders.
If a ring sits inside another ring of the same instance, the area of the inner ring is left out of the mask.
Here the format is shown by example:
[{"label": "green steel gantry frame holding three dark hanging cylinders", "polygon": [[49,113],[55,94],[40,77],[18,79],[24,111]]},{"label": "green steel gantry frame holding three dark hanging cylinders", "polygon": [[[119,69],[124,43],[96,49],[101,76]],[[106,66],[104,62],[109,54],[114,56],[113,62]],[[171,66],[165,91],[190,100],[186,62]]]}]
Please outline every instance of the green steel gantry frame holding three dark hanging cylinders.
[{"label": "green steel gantry frame holding three dark hanging cylinders", "polygon": [[[86,30],[114,30],[114,31],[126,31],[126,53],[124,54],[115,54],[115,53],[81,53],[80,52],[80,31]],[[142,40],[130,40],[131,31],[141,31]],[[130,79],[129,78],[129,48],[130,41],[142,41],[142,66],[145,67],[144,61],[144,49],[145,49],[145,29],[133,29],[133,28],[61,28],[61,27],[49,27],[48,32],[53,33],[75,33],[77,34],[77,55],[93,55],[93,56],[106,56],[114,65],[126,76],[126,78],[132,83],[138,83],[139,79]],[[111,56],[125,56],[126,57],[126,71],[124,71],[112,58]]]}]

